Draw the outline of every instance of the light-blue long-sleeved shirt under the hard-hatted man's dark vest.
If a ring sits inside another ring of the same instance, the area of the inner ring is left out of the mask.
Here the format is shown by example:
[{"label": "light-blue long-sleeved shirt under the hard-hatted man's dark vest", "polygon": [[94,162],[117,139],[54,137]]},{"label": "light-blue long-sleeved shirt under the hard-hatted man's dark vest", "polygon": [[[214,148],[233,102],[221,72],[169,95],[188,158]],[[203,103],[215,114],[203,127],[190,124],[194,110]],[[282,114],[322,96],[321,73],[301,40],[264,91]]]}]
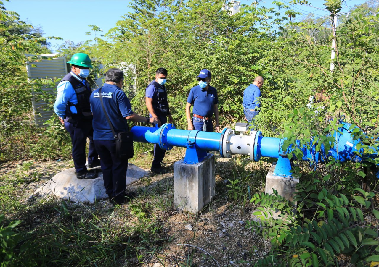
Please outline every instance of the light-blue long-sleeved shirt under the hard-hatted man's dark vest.
[{"label": "light-blue long-sleeved shirt under the hard-hatted man's dark vest", "polygon": [[[85,84],[85,80],[81,79],[74,72],[70,74],[75,77],[78,81]],[[78,98],[76,96],[74,87],[72,87],[69,81],[61,81],[56,87],[57,95],[54,103],[54,112],[58,117],[64,119],[66,117],[66,105],[70,102],[74,105],[78,103]],[[78,113],[75,106],[70,106],[70,110],[73,114]]]}]

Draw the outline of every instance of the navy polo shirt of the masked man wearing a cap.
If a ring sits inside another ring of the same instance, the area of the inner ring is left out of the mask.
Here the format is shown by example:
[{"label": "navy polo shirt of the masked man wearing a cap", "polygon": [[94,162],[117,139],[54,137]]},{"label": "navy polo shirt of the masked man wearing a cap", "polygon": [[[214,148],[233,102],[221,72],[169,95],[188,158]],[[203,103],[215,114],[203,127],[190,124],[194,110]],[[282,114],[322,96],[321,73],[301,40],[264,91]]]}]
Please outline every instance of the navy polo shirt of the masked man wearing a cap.
[{"label": "navy polo shirt of the masked man wearing a cap", "polygon": [[214,105],[218,104],[217,91],[215,87],[209,86],[208,90],[195,86],[189,92],[187,102],[193,105],[193,114],[203,117],[212,117]]}]

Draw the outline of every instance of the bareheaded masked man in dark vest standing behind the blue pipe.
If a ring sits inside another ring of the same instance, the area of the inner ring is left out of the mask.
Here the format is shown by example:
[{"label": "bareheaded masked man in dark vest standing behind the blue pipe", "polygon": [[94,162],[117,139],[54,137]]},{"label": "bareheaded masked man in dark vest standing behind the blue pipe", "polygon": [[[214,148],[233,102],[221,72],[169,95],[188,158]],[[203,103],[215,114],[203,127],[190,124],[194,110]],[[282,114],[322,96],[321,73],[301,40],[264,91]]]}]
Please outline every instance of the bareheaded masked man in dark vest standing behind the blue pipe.
[{"label": "bareheaded masked man in dark vest standing behind the blue pipe", "polygon": [[[155,72],[155,80],[149,83],[146,87],[146,106],[150,112],[150,118],[156,118],[158,120],[158,127],[167,123],[167,116],[169,122],[172,123],[172,117],[167,101],[167,91],[164,84],[167,81],[167,70],[164,68],[158,68]],[[155,125],[154,125],[155,126]],[[159,145],[154,145],[154,160],[151,164],[151,171],[155,173],[166,173],[166,169],[161,166],[164,154],[166,150],[163,150]]]}]

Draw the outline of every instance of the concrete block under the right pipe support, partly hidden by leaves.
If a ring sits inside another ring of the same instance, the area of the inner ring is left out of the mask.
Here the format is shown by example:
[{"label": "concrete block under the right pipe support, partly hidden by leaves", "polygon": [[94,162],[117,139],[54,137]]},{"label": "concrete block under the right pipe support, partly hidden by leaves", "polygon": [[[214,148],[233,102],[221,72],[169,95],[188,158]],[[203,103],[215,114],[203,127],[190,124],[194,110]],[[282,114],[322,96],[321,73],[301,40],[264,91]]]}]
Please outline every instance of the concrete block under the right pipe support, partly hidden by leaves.
[{"label": "concrete block under the right pipe support, partly hidden by leaves", "polygon": [[[299,179],[274,175],[276,162],[271,165],[271,168],[266,176],[266,193],[273,194],[273,189],[278,191],[278,194],[289,201],[293,201],[296,192],[296,184]],[[296,205],[296,203],[295,203]]]}]

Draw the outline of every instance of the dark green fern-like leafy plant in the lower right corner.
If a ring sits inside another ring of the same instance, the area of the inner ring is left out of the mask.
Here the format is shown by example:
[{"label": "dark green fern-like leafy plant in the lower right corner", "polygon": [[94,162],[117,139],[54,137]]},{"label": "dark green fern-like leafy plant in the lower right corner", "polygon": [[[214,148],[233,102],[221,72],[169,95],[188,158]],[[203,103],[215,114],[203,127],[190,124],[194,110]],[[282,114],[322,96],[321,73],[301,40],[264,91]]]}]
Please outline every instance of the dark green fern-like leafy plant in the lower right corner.
[{"label": "dark green fern-like leafy plant in the lower right corner", "polygon": [[[357,190],[360,191],[360,190]],[[364,192],[364,191],[363,191]],[[330,266],[337,265],[340,254],[350,257],[350,263],[365,266],[379,261],[377,210],[369,211],[373,194],[352,201],[325,189],[314,202],[312,217],[294,213],[293,203],[277,195],[255,194],[252,202],[260,204],[246,227],[271,238],[272,251],[255,266]],[[363,202],[364,201],[364,202]],[[362,205],[364,204],[364,205]],[[274,216],[276,215],[276,216]],[[274,256],[275,255],[275,256]]]}]

